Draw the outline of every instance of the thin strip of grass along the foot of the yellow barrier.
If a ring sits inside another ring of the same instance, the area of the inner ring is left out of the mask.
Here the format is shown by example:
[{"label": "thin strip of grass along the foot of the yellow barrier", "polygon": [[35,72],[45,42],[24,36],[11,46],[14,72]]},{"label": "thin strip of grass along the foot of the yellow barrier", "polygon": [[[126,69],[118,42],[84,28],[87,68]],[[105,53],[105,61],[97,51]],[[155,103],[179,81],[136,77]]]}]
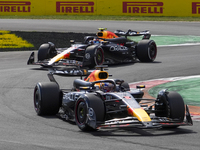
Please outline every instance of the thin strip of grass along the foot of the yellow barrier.
[{"label": "thin strip of grass along the foot of the yellow barrier", "polygon": [[200,17],[164,16],[102,16],[102,15],[48,15],[48,16],[0,16],[0,19],[64,19],[64,20],[122,20],[122,21],[200,21]]}]

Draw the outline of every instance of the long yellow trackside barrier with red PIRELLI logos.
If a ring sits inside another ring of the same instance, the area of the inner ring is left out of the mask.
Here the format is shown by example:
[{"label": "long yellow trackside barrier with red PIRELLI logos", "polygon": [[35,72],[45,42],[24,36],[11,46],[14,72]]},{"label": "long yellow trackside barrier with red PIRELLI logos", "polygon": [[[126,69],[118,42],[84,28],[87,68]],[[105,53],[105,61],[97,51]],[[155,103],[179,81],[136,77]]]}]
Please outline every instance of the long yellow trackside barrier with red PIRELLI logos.
[{"label": "long yellow trackside barrier with red PIRELLI logos", "polygon": [[0,15],[200,16],[200,0],[0,0]]}]

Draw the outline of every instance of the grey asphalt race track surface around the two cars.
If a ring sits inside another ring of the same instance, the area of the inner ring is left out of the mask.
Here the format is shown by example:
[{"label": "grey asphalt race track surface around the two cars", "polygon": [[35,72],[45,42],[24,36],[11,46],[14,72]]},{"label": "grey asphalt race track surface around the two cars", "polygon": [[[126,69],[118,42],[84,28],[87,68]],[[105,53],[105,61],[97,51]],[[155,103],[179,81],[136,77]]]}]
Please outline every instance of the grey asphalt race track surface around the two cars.
[{"label": "grey asphalt race track surface around the two cars", "polygon": [[[97,27],[111,31],[149,29],[158,35],[200,35],[198,22],[0,20],[0,30],[96,32]],[[199,75],[199,47],[160,47],[154,63],[112,65],[109,73],[127,82]],[[26,51],[0,54],[0,149],[199,150],[200,123],[197,121],[194,126],[168,130],[124,128],[84,133],[74,123],[56,116],[38,117],[33,108],[33,88],[39,81],[48,81],[47,71],[39,66],[27,66],[29,55]],[[70,88],[75,78],[56,79],[61,87]]]}]

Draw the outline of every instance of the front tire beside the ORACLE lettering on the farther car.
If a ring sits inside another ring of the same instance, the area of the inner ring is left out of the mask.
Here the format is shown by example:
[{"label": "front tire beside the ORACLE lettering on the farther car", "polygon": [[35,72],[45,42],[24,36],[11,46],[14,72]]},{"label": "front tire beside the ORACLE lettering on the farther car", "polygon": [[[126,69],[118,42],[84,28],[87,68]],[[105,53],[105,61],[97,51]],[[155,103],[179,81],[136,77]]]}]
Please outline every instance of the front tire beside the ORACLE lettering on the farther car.
[{"label": "front tire beside the ORACLE lettering on the farther car", "polygon": [[91,45],[87,47],[85,51],[85,64],[88,64],[90,68],[102,65],[104,62],[104,51],[98,45]]}]

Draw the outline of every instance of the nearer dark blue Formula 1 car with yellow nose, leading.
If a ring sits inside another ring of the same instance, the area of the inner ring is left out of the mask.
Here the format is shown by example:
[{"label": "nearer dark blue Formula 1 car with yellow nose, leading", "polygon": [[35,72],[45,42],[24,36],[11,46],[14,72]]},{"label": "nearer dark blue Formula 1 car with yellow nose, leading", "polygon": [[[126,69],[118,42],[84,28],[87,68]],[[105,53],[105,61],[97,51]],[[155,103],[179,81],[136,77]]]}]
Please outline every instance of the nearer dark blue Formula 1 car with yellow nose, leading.
[{"label": "nearer dark blue Formula 1 car with yellow nose, leading", "polygon": [[[176,92],[162,90],[156,99],[143,99],[143,91],[130,90],[120,79],[108,79],[95,70],[86,80],[76,79],[72,89],[60,89],[53,73],[51,82],[37,83],[34,107],[39,116],[56,115],[75,121],[82,131],[104,127],[160,128],[192,125],[187,105]],[[150,103],[149,103],[150,102]],[[150,105],[148,105],[150,104]],[[186,113],[186,114],[185,114]]]}]

